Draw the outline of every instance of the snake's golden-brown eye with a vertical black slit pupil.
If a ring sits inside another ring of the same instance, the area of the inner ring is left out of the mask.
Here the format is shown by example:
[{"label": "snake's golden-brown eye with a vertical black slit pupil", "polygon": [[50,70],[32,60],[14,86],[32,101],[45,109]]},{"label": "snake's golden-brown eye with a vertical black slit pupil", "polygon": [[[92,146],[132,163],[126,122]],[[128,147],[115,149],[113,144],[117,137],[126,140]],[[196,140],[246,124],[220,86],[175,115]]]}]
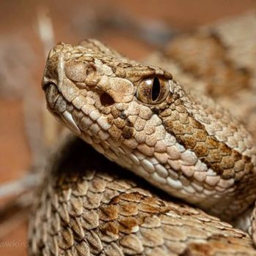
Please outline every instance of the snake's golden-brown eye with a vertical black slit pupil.
[{"label": "snake's golden-brown eye with a vertical black slit pupil", "polygon": [[165,78],[146,78],[140,80],[137,97],[146,104],[159,104],[163,102],[169,94],[169,80]]}]

